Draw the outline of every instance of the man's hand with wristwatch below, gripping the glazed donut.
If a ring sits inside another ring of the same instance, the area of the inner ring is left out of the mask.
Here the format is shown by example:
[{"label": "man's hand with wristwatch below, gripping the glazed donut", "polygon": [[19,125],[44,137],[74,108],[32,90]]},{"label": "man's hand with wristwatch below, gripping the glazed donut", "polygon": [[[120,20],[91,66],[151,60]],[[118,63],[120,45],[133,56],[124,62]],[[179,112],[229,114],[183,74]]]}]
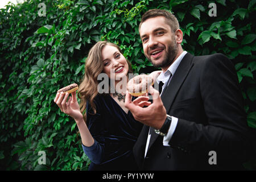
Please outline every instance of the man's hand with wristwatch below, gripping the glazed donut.
[{"label": "man's hand with wristwatch below, gripping the glazed donut", "polygon": [[[131,95],[126,92],[125,107],[131,111],[134,119],[142,122],[144,125],[160,129],[167,118],[166,108],[159,96],[158,90],[152,86],[148,89],[148,93],[153,97],[153,103],[148,102],[149,97],[141,96],[131,101]],[[143,107],[147,106],[147,107]]]}]

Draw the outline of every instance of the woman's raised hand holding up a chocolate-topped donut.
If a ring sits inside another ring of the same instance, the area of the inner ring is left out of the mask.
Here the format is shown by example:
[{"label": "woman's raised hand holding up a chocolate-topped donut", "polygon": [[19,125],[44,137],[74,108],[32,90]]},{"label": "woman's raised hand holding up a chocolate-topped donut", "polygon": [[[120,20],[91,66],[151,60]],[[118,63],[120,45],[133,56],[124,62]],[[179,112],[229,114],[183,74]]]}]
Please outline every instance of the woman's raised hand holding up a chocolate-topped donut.
[{"label": "woman's raised hand holding up a chocolate-topped donut", "polygon": [[57,93],[54,102],[60,107],[63,113],[70,115],[76,122],[81,121],[82,113],[77,102],[76,92],[71,93],[72,97],[68,98],[68,95],[68,93],[64,94],[63,92]]}]

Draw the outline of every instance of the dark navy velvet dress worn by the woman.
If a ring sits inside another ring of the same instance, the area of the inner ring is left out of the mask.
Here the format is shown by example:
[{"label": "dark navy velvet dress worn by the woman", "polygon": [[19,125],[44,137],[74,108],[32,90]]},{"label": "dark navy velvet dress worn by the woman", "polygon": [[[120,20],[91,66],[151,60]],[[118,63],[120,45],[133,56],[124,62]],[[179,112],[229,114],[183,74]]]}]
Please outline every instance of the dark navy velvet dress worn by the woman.
[{"label": "dark navy velvet dress worn by the woman", "polygon": [[95,142],[92,147],[82,146],[92,161],[89,170],[137,170],[133,146],[142,123],[130,111],[126,114],[110,95],[98,95],[94,103],[96,114],[89,104],[86,107],[86,125]]}]

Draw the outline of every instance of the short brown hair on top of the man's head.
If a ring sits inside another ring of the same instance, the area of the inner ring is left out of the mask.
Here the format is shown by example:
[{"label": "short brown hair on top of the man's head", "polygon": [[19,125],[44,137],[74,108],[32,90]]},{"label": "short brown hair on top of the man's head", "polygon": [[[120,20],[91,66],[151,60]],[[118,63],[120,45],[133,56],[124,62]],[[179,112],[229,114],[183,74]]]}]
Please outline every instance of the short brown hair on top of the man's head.
[{"label": "short brown hair on top of the man's head", "polygon": [[141,24],[143,22],[156,16],[164,16],[164,18],[166,18],[166,23],[170,25],[172,31],[175,32],[177,29],[180,28],[179,22],[177,21],[175,15],[171,14],[169,11],[166,10],[152,9],[146,11],[146,13],[142,15],[141,23],[139,23],[139,30],[141,29]]}]

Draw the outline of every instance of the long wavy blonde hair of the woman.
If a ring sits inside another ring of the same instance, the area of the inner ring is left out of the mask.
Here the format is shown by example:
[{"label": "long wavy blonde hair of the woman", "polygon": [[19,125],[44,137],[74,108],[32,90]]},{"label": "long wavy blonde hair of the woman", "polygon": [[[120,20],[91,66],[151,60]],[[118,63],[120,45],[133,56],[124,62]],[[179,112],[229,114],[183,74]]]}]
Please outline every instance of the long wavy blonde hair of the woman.
[{"label": "long wavy blonde hair of the woman", "polygon": [[[103,60],[102,60],[102,49],[105,46],[113,46],[118,49],[120,53],[121,49],[114,43],[110,43],[107,41],[97,42],[89,51],[88,57],[85,61],[85,75],[82,79],[77,96],[80,98],[80,110],[84,117],[84,121],[86,122],[86,104],[90,104],[93,109],[94,114],[96,114],[96,106],[93,102],[94,98],[98,93],[98,80],[97,77],[100,73],[103,72]],[[127,64],[129,66],[129,73],[132,72],[131,64],[126,59]]]}]

